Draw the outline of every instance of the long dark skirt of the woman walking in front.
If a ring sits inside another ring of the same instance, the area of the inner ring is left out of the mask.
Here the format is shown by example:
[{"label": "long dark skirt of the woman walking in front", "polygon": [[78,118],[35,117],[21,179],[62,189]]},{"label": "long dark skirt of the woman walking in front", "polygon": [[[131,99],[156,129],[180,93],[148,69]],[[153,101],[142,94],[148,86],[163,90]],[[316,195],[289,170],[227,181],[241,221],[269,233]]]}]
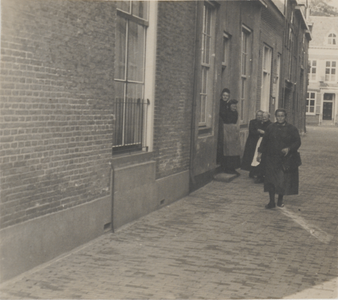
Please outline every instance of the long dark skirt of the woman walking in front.
[{"label": "long dark skirt of the woman walking in front", "polygon": [[269,192],[269,185],[273,185],[276,194],[297,195],[299,188],[298,168],[290,172],[282,169],[280,155],[267,155],[265,161],[264,192]]}]

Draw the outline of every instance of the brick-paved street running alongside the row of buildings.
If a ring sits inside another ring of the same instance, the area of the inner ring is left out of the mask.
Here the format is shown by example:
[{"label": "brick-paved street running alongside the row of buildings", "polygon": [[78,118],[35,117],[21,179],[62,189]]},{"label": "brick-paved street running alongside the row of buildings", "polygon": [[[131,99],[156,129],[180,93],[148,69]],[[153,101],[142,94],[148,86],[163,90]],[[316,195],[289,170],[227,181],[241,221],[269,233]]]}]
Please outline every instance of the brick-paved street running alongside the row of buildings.
[{"label": "brick-paved street running alongside the row of buildings", "polygon": [[308,129],[285,208],[265,210],[242,171],[2,284],[1,299],[337,298],[337,149],[337,128]]}]

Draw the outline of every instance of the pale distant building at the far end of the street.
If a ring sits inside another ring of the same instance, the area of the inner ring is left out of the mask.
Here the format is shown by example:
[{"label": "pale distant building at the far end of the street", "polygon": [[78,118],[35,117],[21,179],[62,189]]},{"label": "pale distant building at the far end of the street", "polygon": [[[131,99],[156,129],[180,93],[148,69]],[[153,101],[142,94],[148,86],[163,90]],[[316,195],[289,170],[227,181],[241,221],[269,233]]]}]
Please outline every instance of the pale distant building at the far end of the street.
[{"label": "pale distant building at the far end of the street", "polygon": [[338,124],[338,17],[310,18],[309,86],[306,123]]}]

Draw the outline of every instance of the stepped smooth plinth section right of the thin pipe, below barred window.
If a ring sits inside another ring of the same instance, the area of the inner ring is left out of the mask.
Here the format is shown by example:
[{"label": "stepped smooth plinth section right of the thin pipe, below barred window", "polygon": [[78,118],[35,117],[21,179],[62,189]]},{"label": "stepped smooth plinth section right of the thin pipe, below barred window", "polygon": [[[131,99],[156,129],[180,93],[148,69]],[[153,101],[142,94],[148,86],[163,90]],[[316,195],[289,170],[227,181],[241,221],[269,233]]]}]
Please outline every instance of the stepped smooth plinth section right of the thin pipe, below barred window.
[{"label": "stepped smooth plinth section right of the thin pipe, below barred window", "polygon": [[189,193],[189,171],[157,180],[155,177],[155,161],[114,170],[114,229],[168,205]]}]

